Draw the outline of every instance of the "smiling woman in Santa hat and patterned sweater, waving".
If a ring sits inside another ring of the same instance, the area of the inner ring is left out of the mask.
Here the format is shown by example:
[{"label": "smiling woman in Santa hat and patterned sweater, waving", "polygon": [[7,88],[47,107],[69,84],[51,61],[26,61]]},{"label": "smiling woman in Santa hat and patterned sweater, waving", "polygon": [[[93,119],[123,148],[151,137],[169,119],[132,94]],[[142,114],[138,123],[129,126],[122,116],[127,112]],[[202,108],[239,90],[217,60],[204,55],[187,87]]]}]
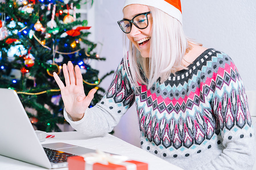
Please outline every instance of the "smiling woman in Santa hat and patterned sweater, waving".
[{"label": "smiling woman in Santa hat and patterned sweater, waving", "polygon": [[[129,39],[110,87],[88,108],[79,67],[63,65],[64,116],[88,136],[110,132],[134,103],[141,148],[184,169],[250,169],[254,133],[241,77],[225,53],[185,37],[180,1],[126,0]],[[128,52],[127,52],[128,51]]]}]

